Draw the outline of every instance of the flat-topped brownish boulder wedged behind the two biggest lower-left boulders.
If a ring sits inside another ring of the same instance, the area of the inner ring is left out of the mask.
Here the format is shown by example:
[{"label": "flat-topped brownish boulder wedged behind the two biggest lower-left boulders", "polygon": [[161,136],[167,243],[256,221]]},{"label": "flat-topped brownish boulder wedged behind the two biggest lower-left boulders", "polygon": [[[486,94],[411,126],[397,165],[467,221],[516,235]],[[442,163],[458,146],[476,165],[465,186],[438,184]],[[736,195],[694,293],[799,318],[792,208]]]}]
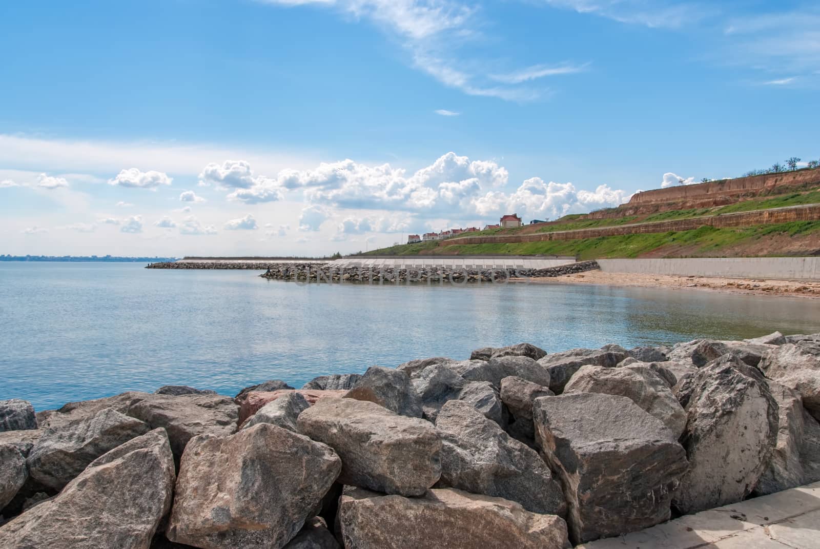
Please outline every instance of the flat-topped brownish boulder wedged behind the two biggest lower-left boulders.
[{"label": "flat-topped brownish boulder wedged behind the two biggest lower-left boulders", "polygon": [[239,407],[220,395],[153,395],[131,404],[126,412],[151,428],[165,428],[179,459],[188,441],[201,434],[226,437],[236,431]]}]

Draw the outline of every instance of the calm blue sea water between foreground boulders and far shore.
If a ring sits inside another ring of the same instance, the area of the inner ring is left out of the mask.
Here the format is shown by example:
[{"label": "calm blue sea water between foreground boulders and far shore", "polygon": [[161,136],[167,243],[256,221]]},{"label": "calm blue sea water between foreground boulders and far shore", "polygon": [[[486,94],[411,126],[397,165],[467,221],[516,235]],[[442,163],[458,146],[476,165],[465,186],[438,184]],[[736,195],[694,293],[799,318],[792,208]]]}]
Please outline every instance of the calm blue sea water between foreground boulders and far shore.
[{"label": "calm blue sea water between foreground boulders and far shore", "polygon": [[0,263],[0,400],[190,385],[235,395],[372,364],[820,332],[820,302],[608,286],[356,286],[134,263]]}]

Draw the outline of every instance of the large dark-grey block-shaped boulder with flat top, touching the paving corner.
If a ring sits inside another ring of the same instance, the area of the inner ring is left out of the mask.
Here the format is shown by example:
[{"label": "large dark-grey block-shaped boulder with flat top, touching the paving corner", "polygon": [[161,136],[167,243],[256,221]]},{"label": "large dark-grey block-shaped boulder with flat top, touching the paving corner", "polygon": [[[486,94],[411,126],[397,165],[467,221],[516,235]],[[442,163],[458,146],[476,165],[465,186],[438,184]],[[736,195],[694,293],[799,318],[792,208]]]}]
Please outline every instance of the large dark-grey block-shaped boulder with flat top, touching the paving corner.
[{"label": "large dark-grey block-shaped boulder with flat top, touching the paving corner", "polygon": [[625,396],[542,396],[533,408],[544,459],[561,478],[574,543],[668,520],[686,453],[674,434]]}]

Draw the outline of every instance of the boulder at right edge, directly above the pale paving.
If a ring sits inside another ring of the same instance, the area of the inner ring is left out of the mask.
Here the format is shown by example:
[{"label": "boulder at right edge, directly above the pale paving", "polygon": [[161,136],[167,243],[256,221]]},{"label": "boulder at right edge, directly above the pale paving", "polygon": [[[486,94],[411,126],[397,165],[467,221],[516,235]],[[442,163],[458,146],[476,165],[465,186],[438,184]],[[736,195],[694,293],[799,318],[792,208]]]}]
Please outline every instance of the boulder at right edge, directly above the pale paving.
[{"label": "boulder at right edge, directly above the pale paving", "polygon": [[795,391],[776,382],[768,387],[777,401],[777,444],[754,487],[755,496],[820,480],[820,423],[805,411]]}]

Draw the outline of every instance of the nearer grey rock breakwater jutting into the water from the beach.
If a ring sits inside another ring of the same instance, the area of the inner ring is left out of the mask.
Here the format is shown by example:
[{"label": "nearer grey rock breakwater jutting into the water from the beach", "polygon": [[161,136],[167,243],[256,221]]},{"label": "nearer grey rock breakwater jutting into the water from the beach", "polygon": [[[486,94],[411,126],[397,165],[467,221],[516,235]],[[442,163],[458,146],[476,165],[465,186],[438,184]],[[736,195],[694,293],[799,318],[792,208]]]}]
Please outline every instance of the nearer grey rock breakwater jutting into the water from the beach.
[{"label": "nearer grey rock breakwater jutting into the water from the beach", "polygon": [[581,261],[543,269],[533,268],[339,268],[316,263],[302,265],[278,265],[268,268],[260,275],[268,280],[298,282],[364,284],[465,284],[470,282],[506,282],[515,279],[540,277],[563,277],[575,272],[592,271],[599,268],[596,261]]}]

